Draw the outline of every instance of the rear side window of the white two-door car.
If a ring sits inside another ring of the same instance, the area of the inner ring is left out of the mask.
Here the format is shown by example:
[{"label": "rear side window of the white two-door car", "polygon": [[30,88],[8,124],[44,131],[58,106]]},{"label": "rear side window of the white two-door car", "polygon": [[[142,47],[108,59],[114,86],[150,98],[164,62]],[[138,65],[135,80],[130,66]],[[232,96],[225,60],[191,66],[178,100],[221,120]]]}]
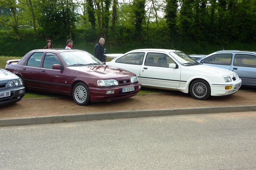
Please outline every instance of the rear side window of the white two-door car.
[{"label": "rear side window of the white two-door car", "polygon": [[117,59],[116,63],[142,65],[144,55],[145,55],[144,52],[129,53]]}]

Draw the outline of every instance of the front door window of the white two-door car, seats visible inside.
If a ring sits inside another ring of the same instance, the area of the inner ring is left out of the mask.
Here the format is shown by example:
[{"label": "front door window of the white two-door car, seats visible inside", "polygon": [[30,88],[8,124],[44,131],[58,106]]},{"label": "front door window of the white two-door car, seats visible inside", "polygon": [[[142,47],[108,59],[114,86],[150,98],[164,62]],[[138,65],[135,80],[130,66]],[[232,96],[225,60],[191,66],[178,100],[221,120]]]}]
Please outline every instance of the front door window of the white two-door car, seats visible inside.
[{"label": "front door window of the white two-door car, seats visible inside", "polygon": [[174,61],[166,54],[148,53],[145,61],[145,66],[169,67]]}]

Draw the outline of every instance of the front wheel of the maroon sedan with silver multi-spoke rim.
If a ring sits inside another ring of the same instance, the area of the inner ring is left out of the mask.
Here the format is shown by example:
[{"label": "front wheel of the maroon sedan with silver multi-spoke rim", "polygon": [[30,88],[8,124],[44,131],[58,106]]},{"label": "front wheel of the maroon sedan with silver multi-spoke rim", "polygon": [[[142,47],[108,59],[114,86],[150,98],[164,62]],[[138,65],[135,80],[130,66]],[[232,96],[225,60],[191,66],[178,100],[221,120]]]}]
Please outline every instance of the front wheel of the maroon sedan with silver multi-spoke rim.
[{"label": "front wheel of the maroon sedan with silver multi-spoke rim", "polygon": [[86,84],[83,82],[76,83],[73,88],[73,99],[76,104],[85,106],[90,101],[90,91]]}]

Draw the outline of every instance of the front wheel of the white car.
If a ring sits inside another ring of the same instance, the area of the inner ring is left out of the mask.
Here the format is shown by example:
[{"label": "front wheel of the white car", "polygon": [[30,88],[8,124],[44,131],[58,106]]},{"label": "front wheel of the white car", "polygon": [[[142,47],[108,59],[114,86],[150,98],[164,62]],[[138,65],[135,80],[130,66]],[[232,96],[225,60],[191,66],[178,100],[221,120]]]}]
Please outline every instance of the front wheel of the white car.
[{"label": "front wheel of the white car", "polygon": [[207,81],[198,79],[190,84],[189,91],[197,100],[206,100],[211,94],[211,88]]}]

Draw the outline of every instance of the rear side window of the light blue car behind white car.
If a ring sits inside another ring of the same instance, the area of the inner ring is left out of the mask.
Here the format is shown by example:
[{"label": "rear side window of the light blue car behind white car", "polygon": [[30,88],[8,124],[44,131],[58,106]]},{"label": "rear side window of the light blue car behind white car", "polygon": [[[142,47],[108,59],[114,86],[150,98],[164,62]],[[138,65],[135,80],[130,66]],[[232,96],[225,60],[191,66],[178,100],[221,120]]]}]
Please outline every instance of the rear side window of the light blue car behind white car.
[{"label": "rear side window of the light blue car behind white car", "polygon": [[214,54],[202,60],[201,63],[230,66],[232,55],[233,54]]}]

